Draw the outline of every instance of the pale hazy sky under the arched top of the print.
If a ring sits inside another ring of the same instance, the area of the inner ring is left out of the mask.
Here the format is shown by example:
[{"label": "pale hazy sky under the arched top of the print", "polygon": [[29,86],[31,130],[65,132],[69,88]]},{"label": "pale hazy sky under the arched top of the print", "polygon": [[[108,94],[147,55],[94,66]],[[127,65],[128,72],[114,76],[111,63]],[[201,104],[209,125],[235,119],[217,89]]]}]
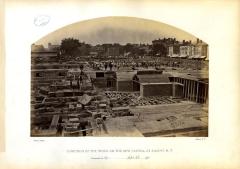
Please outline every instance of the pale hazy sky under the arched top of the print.
[{"label": "pale hazy sky under the arched top of the print", "polygon": [[35,44],[47,46],[60,44],[64,38],[73,37],[80,42],[96,45],[103,43],[148,43],[158,38],[176,38],[179,41],[196,41],[196,37],[174,26],[134,17],[102,17],[80,21],[62,27]]}]

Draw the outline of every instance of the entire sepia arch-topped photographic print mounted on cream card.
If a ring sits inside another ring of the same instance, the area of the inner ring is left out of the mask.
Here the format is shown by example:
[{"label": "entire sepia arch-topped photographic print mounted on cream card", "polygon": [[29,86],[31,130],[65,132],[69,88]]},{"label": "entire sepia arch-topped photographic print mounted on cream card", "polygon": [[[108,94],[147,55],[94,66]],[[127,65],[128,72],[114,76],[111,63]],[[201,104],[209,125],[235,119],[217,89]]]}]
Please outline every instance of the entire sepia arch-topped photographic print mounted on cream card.
[{"label": "entire sepia arch-topped photographic print mounted on cream card", "polygon": [[143,18],[60,28],[31,45],[31,136],[207,137],[208,50]]}]

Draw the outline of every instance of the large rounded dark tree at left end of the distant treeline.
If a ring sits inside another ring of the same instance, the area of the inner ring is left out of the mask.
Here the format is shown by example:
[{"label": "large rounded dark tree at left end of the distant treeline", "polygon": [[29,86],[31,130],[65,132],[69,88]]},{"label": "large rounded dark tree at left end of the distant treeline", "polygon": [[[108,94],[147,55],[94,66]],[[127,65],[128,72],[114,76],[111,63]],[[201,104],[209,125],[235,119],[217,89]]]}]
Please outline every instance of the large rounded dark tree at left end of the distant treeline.
[{"label": "large rounded dark tree at left end of the distant treeline", "polygon": [[61,42],[60,50],[64,55],[76,56],[80,42],[78,39],[66,38]]}]

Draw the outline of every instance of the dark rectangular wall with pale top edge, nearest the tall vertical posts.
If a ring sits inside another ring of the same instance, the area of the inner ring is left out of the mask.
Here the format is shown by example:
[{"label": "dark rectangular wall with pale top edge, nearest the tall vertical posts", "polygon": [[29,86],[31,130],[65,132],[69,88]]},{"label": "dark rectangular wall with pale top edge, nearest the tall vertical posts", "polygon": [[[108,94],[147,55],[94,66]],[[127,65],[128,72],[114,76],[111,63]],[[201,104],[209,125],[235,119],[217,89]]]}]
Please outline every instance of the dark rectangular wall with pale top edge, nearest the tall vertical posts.
[{"label": "dark rectangular wall with pale top edge, nearest the tall vertical posts", "polygon": [[149,83],[140,85],[140,96],[172,96],[172,83]]}]

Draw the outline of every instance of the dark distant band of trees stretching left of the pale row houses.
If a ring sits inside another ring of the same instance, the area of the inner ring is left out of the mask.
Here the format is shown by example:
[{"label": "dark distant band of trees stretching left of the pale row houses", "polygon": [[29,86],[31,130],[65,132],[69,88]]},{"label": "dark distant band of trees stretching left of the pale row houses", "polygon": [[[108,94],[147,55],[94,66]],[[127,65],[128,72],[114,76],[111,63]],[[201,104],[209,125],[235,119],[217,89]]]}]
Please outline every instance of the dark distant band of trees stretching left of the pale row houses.
[{"label": "dark distant band of trees stretching left of the pale row houses", "polygon": [[163,44],[132,44],[127,43],[121,45],[118,43],[113,44],[98,44],[90,45],[85,42],[80,42],[78,39],[66,38],[61,41],[60,45],[61,55],[65,56],[87,56],[90,54],[96,54],[99,56],[104,55],[167,55],[167,47]]}]

